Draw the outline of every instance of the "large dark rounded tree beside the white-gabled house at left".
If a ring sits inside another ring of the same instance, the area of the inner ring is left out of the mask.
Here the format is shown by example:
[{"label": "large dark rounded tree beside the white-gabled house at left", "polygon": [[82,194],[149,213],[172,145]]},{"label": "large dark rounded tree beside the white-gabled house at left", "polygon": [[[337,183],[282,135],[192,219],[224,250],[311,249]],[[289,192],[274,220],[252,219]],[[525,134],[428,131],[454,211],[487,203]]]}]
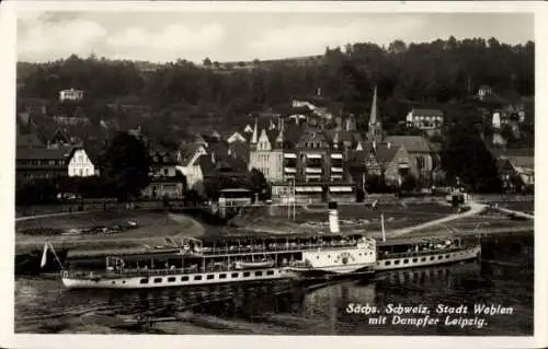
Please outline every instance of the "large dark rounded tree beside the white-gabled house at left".
[{"label": "large dark rounded tree beside the white-gabled house at left", "polygon": [[117,132],[111,139],[102,164],[102,175],[112,182],[118,200],[138,197],[150,183],[147,149],[140,140],[126,132]]}]

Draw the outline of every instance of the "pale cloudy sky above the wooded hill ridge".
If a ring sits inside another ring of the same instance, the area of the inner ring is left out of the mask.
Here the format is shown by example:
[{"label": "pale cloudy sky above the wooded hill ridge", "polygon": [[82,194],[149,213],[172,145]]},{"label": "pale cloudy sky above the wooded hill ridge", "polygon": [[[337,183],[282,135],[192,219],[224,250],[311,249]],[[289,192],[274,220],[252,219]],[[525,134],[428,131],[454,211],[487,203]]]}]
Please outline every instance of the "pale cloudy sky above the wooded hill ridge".
[{"label": "pale cloudy sky above the wooded hill ridge", "polygon": [[20,12],[18,58],[71,54],[112,59],[202,62],[321,55],[326,47],[495,37],[534,40],[526,13]]}]

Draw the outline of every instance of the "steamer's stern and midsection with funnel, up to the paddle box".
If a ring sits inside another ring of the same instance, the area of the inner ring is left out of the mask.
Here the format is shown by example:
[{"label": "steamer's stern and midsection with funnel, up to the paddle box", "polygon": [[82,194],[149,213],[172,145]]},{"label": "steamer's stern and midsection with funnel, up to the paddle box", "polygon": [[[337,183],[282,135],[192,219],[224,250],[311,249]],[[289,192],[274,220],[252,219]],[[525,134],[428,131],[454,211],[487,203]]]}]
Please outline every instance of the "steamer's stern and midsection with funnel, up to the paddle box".
[{"label": "steamer's stern and midsection with funnel, up to the paddle box", "polygon": [[287,236],[181,237],[172,246],[110,254],[102,270],[65,267],[65,287],[147,289],[320,275],[373,275],[376,242],[362,234],[342,235],[335,209],[331,233]]}]

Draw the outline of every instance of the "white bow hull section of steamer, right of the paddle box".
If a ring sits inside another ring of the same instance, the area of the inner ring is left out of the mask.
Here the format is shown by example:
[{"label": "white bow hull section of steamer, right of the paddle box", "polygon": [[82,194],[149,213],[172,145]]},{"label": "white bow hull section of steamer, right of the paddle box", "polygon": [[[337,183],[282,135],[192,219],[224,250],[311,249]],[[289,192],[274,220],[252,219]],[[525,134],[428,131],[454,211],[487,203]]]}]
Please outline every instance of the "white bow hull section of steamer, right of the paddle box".
[{"label": "white bow hull section of steamer, right of the paddle box", "polygon": [[431,253],[422,256],[404,256],[398,258],[378,259],[375,266],[377,271],[430,267],[449,263],[464,261],[478,258],[481,254],[481,246],[473,246],[466,249],[448,253]]}]

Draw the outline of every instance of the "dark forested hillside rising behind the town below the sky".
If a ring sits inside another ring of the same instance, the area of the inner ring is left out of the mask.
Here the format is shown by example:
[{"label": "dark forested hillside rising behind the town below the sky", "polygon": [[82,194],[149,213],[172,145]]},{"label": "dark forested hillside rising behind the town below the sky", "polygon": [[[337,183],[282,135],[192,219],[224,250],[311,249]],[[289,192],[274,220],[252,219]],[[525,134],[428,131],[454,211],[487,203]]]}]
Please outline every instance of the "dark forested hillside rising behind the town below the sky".
[{"label": "dark forested hillside rising behind the town below the sky", "polygon": [[[123,105],[145,128],[189,126],[189,120],[224,127],[249,123],[253,110],[287,107],[292,97],[310,96],[318,89],[343,113],[365,116],[378,85],[384,121],[392,127],[410,105],[464,103],[483,84],[506,101],[534,95],[534,49],[532,42],[511,46],[494,38],[410,45],[396,40],[386,48],[328,48],[309,65],[301,58],[298,63],[286,59],[269,65],[250,58],[254,68],[228,70],[183,59],[155,65],[71,56],[48,63],[20,62],[18,97],[54,103],[59,90],[82,89],[91,110]],[[132,113],[132,106],[148,112]],[[147,124],[146,118],[155,121]]]}]

